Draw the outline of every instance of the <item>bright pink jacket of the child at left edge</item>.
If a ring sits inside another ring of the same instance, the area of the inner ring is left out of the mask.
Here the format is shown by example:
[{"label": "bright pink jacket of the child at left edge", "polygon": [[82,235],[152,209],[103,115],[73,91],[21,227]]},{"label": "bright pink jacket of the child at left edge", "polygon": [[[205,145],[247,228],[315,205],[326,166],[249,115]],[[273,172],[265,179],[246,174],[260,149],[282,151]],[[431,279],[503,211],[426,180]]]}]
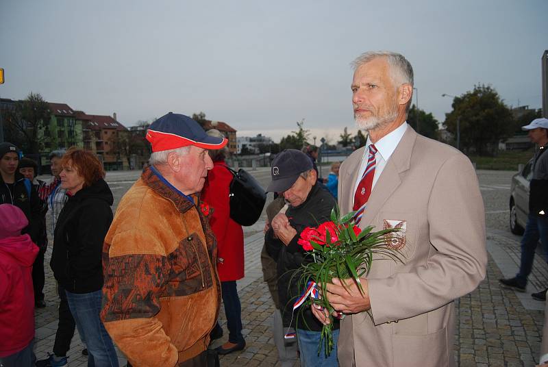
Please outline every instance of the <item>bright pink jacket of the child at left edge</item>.
[{"label": "bright pink jacket of the child at left edge", "polygon": [[0,357],[22,351],[34,338],[32,264],[37,254],[28,234],[0,238]]}]

